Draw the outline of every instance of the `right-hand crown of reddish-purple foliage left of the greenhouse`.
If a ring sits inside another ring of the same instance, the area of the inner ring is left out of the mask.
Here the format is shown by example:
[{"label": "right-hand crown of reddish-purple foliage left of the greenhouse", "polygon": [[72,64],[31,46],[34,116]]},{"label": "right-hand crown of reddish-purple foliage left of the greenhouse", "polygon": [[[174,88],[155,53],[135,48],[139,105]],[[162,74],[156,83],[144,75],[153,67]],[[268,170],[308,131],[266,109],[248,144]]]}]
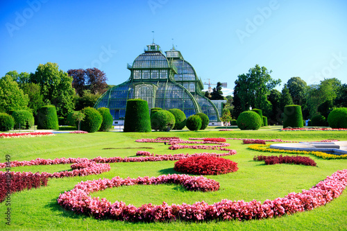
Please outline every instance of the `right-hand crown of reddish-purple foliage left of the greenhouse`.
[{"label": "right-hand crown of reddish-purple foliage left of the greenhouse", "polygon": [[85,70],[85,78],[87,79],[87,84],[90,85],[90,91],[93,94],[103,94],[107,90],[105,72],[100,71],[97,68],[88,68]]}]

